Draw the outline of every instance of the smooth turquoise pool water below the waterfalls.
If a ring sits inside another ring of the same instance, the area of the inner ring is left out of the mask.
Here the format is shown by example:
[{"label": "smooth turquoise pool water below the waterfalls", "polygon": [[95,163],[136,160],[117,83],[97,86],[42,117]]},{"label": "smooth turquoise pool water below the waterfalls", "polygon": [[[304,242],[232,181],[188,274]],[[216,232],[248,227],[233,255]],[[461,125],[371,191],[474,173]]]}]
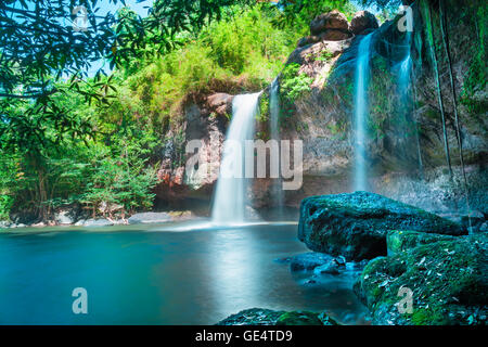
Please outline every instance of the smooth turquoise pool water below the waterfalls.
[{"label": "smooth turquoise pool water below the waterfalls", "polygon": [[[274,261],[308,252],[296,234],[293,224],[0,233],[0,324],[215,324],[253,307],[362,323],[352,277],[310,285]],[[88,314],[72,311],[75,287],[88,292]]]}]

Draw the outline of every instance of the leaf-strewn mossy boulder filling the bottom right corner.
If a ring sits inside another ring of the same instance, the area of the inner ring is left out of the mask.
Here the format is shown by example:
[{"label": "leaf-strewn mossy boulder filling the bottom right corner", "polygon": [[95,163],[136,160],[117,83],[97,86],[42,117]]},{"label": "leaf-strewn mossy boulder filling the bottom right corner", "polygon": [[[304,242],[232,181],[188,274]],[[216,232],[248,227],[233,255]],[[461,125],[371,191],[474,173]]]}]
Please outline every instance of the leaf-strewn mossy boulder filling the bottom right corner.
[{"label": "leaf-strewn mossy boulder filling the bottom right corner", "polygon": [[[354,290],[373,324],[487,323],[487,235],[439,240],[368,264]],[[411,309],[403,306],[406,292]]]}]

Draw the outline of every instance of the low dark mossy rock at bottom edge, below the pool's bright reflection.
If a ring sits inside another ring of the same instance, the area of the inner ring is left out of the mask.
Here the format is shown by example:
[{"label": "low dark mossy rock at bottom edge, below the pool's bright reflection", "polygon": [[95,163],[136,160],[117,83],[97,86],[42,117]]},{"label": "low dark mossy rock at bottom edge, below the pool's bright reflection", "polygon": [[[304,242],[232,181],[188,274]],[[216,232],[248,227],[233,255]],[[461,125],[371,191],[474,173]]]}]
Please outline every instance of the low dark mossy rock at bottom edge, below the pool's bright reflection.
[{"label": "low dark mossy rock at bottom edge, below the pool's bright reflection", "polygon": [[325,312],[286,312],[252,308],[232,314],[217,325],[338,325],[338,323]]}]

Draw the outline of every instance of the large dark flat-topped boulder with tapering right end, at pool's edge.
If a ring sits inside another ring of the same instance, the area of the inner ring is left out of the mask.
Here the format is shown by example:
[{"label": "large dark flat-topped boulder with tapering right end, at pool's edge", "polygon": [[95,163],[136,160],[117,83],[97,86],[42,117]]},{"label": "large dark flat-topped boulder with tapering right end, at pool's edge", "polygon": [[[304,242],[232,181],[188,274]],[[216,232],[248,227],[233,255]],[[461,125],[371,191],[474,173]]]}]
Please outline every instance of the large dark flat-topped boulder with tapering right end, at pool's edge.
[{"label": "large dark flat-topped boulder with tapering right end, at pool's edge", "polygon": [[314,252],[351,260],[384,256],[390,230],[467,233],[452,221],[369,192],[311,196],[301,202],[298,237]]}]

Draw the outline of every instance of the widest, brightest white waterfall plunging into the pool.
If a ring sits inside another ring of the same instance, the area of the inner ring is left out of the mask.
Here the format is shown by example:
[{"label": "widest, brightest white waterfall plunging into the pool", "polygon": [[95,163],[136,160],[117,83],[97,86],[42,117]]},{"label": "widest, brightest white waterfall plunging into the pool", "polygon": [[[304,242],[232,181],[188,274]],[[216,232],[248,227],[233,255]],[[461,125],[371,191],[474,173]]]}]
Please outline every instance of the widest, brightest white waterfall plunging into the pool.
[{"label": "widest, brightest white waterfall plunging into the pool", "polygon": [[244,142],[254,139],[254,120],[259,93],[234,97],[232,119],[223,143],[220,174],[211,208],[216,224],[242,223],[247,206],[247,180],[244,175]]}]

